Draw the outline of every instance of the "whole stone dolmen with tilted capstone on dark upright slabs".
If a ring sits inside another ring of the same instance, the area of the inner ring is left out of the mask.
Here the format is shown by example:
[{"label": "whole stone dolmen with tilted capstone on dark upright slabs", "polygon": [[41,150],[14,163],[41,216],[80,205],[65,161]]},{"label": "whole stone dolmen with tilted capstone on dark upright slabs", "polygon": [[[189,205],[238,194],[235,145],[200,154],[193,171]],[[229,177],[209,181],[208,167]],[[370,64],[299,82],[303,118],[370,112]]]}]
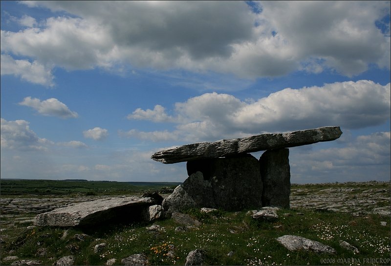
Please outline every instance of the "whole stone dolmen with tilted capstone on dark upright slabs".
[{"label": "whole stone dolmen with tilted capstone on dark upright slabs", "polygon": [[[193,143],[156,152],[151,158],[164,164],[187,162],[189,175],[162,206],[169,213],[188,208],[289,209],[287,148],[332,141],[341,134],[340,127],[321,127]],[[259,160],[249,154],[259,151],[265,151]]]}]

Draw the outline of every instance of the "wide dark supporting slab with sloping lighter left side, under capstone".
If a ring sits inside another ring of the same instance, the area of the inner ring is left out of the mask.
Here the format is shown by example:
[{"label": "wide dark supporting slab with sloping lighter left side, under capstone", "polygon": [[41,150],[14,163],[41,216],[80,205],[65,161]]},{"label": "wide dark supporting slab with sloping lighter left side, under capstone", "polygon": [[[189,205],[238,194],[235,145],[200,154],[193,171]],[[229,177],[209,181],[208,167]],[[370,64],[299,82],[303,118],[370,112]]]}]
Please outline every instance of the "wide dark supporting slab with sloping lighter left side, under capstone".
[{"label": "wide dark supporting slab with sloping lighter left side, under capstone", "polygon": [[[211,158],[187,163],[189,177],[163,207],[173,211],[182,206],[215,208],[228,211],[262,207],[262,180],[259,161],[251,154]],[[180,192],[181,191],[181,192]],[[174,193],[173,193],[174,194]],[[170,203],[171,202],[171,203]],[[182,205],[178,205],[182,202]],[[186,203],[186,204],[185,204]],[[175,207],[176,206],[176,207]]]}]

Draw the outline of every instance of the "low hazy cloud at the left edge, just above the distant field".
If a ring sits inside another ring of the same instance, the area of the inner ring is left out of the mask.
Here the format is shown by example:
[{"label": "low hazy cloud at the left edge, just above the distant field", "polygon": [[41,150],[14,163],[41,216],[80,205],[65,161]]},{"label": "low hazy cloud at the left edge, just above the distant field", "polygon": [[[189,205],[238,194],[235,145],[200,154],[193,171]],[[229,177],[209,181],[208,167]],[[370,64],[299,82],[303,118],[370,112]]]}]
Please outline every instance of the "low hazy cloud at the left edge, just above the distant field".
[{"label": "low hazy cloud at the left edge, just above the distant field", "polygon": [[1,118],[1,148],[20,151],[47,151],[52,141],[40,138],[25,120],[7,121]]}]

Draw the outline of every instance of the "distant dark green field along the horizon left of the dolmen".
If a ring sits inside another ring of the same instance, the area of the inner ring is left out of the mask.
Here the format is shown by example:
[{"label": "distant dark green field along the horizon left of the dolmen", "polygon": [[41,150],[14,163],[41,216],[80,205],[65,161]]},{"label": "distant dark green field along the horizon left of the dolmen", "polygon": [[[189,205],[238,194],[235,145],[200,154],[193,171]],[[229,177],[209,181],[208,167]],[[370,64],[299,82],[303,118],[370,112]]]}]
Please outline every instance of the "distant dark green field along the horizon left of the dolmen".
[{"label": "distant dark green field along the horizon left of the dolmen", "polygon": [[33,180],[1,179],[1,195],[65,195],[84,193],[87,195],[120,195],[155,190],[170,192],[177,182],[116,182],[87,180]]}]

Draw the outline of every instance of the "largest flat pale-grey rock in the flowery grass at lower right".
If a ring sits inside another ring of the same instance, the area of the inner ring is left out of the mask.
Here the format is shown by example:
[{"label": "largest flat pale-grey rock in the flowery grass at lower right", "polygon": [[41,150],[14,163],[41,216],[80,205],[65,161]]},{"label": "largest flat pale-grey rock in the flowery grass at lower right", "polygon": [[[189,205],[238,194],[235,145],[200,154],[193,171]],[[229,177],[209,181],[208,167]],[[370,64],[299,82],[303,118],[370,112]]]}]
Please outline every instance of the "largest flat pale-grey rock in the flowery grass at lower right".
[{"label": "largest flat pale-grey rock in the flowery grass at lower right", "polygon": [[290,251],[304,249],[311,250],[317,253],[336,253],[335,249],[329,246],[326,246],[320,242],[310,240],[301,236],[296,235],[284,235],[277,238],[277,241],[286,247]]}]

